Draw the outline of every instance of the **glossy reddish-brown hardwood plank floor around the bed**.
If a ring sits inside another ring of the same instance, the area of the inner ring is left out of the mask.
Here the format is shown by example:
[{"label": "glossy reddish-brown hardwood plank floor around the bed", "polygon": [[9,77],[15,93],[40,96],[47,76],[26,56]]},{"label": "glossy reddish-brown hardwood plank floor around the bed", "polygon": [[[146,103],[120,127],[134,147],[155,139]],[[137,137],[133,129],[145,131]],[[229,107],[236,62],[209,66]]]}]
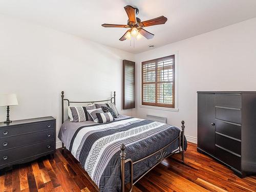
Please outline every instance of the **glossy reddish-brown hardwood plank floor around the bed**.
[{"label": "glossy reddish-brown hardwood plank floor around the bed", "polygon": [[[176,154],[146,174],[133,191],[256,191],[256,176],[240,179],[188,143],[185,165]],[[65,150],[0,171],[0,191],[96,191],[79,162]]]}]

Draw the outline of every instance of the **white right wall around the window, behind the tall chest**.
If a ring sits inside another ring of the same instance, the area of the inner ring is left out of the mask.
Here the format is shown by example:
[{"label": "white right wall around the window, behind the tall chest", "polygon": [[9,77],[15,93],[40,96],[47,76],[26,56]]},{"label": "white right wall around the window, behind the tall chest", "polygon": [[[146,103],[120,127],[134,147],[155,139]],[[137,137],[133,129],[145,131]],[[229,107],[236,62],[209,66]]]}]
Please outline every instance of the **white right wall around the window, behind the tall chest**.
[{"label": "white right wall around the window, behind the tall chest", "polygon": [[[172,35],[172,32],[170,32]],[[141,62],[178,51],[178,112],[140,108]],[[133,115],[167,117],[189,141],[197,138],[197,91],[256,90],[256,18],[136,55],[136,109]]]}]

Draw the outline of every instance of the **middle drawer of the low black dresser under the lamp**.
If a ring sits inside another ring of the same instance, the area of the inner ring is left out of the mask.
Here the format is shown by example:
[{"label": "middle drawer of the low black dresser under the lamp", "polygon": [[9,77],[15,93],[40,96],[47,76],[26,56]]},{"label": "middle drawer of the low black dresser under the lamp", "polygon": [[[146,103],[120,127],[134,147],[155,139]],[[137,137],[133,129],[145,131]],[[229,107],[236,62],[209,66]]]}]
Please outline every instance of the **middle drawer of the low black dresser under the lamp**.
[{"label": "middle drawer of the low black dresser under the lamp", "polygon": [[13,137],[5,137],[1,139],[0,151],[8,150],[13,147],[21,147],[25,145],[34,144],[41,141],[54,139],[53,130],[46,130],[41,132],[35,132],[30,134],[24,134]]}]

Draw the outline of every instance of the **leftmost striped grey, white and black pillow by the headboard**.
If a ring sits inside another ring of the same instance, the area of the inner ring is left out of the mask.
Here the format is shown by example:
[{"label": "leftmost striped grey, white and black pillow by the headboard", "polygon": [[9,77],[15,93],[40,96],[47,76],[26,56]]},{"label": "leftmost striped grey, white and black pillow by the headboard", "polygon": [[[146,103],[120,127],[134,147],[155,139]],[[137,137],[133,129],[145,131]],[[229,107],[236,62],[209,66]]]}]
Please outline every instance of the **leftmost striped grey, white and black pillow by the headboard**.
[{"label": "leftmost striped grey, white and black pillow by the headboard", "polygon": [[88,110],[96,109],[95,105],[91,106],[70,106],[69,110],[71,114],[69,114],[70,120],[73,122],[83,122],[83,121],[92,121],[92,117],[88,113]]}]

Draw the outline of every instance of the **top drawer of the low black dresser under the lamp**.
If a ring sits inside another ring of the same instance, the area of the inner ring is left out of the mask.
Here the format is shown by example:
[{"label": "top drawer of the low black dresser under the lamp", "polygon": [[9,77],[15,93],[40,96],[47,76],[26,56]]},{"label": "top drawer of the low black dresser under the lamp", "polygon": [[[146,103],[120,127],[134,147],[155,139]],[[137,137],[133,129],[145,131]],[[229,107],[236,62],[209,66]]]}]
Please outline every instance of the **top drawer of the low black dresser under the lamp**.
[{"label": "top drawer of the low black dresser under the lamp", "polygon": [[5,127],[0,131],[0,137],[9,137],[20,134],[27,134],[36,131],[54,129],[55,121],[45,121],[40,123],[31,123],[28,125],[19,125],[15,127]]}]

